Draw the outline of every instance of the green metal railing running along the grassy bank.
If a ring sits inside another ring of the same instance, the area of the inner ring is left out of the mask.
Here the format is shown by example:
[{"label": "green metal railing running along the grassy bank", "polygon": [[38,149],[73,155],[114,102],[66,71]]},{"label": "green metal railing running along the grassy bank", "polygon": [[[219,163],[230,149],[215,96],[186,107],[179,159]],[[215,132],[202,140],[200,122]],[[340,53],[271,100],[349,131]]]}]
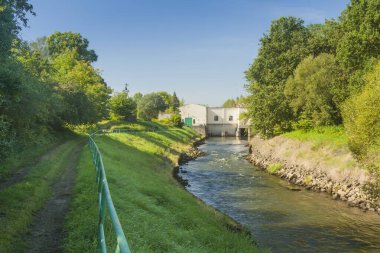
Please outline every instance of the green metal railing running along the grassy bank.
[{"label": "green metal railing running along the grassy bank", "polygon": [[117,245],[115,252],[130,253],[127,239],[125,238],[123,228],[121,227],[115,207],[112,202],[111,193],[108,188],[106,172],[104,170],[102,156],[96,145],[95,137],[97,134],[103,133],[103,130],[95,132],[88,137],[88,146],[90,148],[92,161],[96,169],[96,182],[98,184],[98,204],[99,204],[99,228],[98,243],[101,252],[107,252],[106,237],[104,233],[104,223],[108,210],[113,230],[116,234]]}]

